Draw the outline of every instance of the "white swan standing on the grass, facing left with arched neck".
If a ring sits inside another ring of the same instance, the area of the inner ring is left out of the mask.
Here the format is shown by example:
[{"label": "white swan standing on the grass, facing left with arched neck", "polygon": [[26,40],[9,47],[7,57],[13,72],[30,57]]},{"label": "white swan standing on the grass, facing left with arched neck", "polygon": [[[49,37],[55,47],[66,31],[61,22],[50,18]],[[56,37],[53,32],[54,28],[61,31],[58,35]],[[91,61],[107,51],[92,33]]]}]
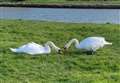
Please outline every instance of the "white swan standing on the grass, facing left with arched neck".
[{"label": "white swan standing on the grass, facing left with arched neck", "polygon": [[107,42],[104,37],[87,37],[81,42],[74,38],[64,46],[64,49],[68,49],[72,43],[75,44],[75,47],[77,49],[82,49],[89,54],[93,54],[93,52],[100,48],[103,48],[105,45],[112,45],[112,43]]}]

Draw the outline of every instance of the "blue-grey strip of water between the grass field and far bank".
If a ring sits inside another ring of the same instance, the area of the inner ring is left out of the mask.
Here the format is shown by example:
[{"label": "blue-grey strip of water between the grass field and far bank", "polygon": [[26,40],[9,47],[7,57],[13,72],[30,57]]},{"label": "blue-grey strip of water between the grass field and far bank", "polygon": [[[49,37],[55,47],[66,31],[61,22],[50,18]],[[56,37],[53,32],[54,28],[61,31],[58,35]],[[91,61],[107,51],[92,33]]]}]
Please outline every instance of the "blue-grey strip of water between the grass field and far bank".
[{"label": "blue-grey strip of water between the grass field and far bank", "polygon": [[73,23],[120,24],[120,9],[58,9],[0,7],[1,19],[25,19]]}]

